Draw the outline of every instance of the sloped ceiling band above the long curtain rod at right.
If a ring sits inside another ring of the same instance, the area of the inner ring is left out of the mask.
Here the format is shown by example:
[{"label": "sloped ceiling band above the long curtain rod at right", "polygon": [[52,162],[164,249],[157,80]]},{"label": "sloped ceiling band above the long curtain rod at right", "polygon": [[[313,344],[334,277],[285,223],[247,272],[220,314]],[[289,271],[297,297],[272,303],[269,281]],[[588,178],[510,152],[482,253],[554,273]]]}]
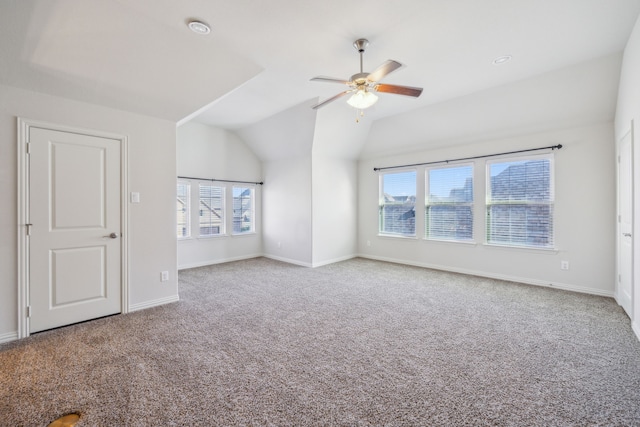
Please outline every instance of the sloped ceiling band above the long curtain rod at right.
[{"label": "sloped ceiling band above the long curtain rod at right", "polygon": [[377,120],[361,156],[611,122],[621,64],[616,53]]}]

